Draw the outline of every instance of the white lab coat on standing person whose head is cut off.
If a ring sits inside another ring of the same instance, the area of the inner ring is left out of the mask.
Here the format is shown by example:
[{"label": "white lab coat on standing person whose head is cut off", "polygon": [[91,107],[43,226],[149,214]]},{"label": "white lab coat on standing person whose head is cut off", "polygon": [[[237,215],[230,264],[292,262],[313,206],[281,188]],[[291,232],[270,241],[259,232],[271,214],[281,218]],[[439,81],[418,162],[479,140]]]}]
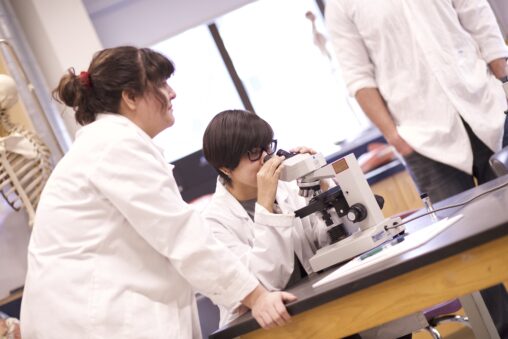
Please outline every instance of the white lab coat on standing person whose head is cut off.
[{"label": "white lab coat on standing person whose head is cut off", "polygon": [[377,87],[417,152],[471,174],[460,116],[501,148],[506,98],[487,63],[508,48],[487,1],[329,0],[326,22],[350,93]]}]

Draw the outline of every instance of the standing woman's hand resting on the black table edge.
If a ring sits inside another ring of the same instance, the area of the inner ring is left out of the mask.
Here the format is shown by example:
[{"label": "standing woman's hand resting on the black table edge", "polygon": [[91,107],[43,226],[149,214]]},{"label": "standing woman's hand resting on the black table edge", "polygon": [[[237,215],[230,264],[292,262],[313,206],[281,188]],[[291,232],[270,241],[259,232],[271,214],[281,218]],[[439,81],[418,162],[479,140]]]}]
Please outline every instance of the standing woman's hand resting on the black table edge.
[{"label": "standing woman's hand resting on the black table edge", "polygon": [[264,329],[287,324],[291,316],[286,310],[284,301],[294,301],[297,298],[288,292],[268,292],[258,285],[242,303],[251,308],[252,316]]}]

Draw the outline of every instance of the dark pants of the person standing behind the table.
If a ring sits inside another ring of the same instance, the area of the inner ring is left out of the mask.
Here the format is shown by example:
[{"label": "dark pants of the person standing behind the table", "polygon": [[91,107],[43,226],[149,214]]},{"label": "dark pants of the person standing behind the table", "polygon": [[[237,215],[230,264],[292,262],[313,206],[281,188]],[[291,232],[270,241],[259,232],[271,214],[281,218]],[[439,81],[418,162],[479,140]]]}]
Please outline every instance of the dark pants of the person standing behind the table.
[{"label": "dark pants of the person standing behind the table", "polygon": [[[405,157],[408,171],[413,177],[418,190],[421,193],[427,192],[432,202],[438,202],[474,187],[473,176],[477,179],[478,184],[495,178],[495,174],[489,165],[489,158],[493,154],[492,150],[473,133],[471,127],[465,122],[464,126],[473,149],[473,175],[431,160],[416,152]],[[503,147],[507,144],[508,119],[505,121]],[[508,339],[508,293],[505,287],[500,284],[480,292],[499,336],[502,339]]]}]

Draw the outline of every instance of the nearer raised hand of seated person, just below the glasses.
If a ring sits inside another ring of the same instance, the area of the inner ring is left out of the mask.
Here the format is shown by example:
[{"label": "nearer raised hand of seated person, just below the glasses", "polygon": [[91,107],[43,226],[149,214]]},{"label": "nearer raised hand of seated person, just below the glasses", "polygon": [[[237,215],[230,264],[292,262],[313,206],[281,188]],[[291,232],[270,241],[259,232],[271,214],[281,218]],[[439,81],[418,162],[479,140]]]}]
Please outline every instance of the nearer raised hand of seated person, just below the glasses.
[{"label": "nearer raised hand of seated person, just below the glasses", "polygon": [[273,156],[263,164],[257,174],[257,202],[270,213],[273,212],[273,203],[275,202],[280,172],[284,168],[282,161],[284,161],[284,157]]}]

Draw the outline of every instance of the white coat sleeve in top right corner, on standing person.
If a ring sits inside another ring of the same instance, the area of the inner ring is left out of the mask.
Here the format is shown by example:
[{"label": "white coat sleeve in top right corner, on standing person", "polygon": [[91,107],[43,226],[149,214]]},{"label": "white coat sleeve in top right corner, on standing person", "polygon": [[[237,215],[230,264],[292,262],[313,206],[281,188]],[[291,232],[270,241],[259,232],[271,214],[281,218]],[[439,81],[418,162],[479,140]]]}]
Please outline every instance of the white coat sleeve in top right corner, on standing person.
[{"label": "white coat sleeve in top right corner, on standing person", "polygon": [[471,34],[480,47],[485,62],[508,57],[508,48],[486,0],[452,0],[452,2],[462,27]]}]

